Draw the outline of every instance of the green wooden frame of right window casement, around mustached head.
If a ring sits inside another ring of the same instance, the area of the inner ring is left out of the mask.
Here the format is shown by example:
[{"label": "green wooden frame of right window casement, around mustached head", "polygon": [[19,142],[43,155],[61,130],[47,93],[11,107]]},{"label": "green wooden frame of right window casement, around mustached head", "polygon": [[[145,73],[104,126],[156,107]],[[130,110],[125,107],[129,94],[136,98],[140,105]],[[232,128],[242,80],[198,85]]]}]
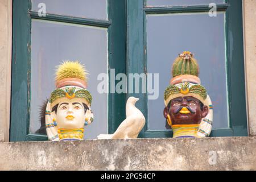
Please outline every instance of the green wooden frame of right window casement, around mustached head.
[{"label": "green wooden frame of right window casement, around mustached head", "polygon": [[[147,14],[196,13],[208,12],[209,10],[208,5],[146,7],[146,0],[127,0],[127,73],[147,73]],[[248,134],[243,61],[242,0],[225,0],[222,5],[217,5],[217,11],[225,11],[226,13],[226,65],[230,127],[228,129],[213,129],[210,137],[245,137]],[[161,93],[159,95],[161,96]],[[139,137],[172,137],[172,130],[149,129],[147,94],[129,94],[129,96],[140,99],[137,106],[146,116],[146,125]]]}]

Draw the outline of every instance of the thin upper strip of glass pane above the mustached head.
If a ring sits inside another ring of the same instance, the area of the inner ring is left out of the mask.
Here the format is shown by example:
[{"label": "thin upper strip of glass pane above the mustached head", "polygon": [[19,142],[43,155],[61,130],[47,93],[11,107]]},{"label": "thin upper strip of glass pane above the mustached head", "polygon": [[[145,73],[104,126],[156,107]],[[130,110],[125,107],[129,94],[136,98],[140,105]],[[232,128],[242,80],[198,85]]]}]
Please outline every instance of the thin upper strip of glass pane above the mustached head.
[{"label": "thin upper strip of glass pane above the mustached head", "polygon": [[147,0],[147,6],[209,5],[209,3],[222,4],[224,0]]}]

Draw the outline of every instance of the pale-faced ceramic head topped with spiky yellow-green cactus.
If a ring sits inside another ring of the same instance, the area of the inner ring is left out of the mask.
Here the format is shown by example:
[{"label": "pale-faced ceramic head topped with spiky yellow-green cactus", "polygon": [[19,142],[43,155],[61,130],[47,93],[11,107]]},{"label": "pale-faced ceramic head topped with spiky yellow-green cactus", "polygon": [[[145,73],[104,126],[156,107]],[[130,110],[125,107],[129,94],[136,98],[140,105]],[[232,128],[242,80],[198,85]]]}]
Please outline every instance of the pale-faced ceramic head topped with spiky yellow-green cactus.
[{"label": "pale-faced ceramic head topped with spiky yellow-green cactus", "polygon": [[84,125],[93,121],[92,96],[86,89],[84,65],[64,61],[56,70],[56,89],[46,107],[46,131],[49,140],[82,140]]}]

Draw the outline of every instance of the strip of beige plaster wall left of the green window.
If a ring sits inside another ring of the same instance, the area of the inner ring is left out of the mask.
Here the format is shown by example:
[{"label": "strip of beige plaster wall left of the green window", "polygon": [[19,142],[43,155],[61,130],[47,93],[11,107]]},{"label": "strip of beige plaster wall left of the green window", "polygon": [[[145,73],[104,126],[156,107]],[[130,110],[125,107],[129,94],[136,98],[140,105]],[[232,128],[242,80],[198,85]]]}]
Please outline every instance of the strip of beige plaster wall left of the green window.
[{"label": "strip of beige plaster wall left of the green window", "polygon": [[0,0],[0,142],[9,141],[12,1]]}]

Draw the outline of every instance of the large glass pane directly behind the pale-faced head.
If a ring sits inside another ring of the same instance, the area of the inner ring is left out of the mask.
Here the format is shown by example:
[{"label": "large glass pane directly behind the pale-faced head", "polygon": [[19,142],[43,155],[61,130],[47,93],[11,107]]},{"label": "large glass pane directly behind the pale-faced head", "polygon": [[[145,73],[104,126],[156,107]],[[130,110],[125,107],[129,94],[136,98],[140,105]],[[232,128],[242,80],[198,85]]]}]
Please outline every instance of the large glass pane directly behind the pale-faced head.
[{"label": "large glass pane directly behind the pale-faced head", "polygon": [[40,106],[55,89],[55,66],[63,60],[79,60],[89,71],[94,121],[85,127],[85,138],[108,133],[108,94],[97,92],[98,74],[108,73],[108,30],[32,19],[31,31],[30,133],[39,132]]}]

